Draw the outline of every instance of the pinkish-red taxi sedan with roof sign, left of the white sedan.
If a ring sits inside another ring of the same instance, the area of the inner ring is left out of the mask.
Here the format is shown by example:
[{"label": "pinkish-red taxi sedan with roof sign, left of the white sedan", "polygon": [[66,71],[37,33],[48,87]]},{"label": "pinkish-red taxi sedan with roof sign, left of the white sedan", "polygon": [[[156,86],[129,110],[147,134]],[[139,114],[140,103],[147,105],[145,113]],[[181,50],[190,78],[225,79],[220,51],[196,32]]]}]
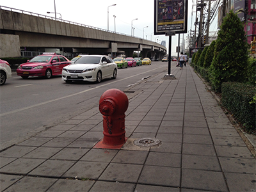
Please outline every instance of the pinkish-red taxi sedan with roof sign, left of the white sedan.
[{"label": "pinkish-red taxi sedan with roof sign, left of the white sedan", "polygon": [[20,64],[16,72],[23,79],[28,79],[29,76],[44,76],[49,79],[52,76],[61,75],[62,68],[70,64],[71,61],[65,56],[54,52],[44,52],[28,60],[27,63]]}]

